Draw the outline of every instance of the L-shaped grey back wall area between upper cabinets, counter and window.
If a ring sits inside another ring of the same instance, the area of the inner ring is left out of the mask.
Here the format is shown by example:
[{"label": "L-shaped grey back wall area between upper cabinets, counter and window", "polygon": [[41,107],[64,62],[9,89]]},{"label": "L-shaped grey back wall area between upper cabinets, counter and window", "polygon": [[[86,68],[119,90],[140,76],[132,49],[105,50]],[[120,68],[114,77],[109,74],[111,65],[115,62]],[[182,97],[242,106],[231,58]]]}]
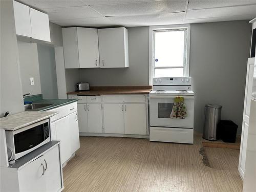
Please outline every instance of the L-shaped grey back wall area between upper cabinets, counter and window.
[{"label": "L-shaped grey back wall area between upper cabinets, counter and window", "polygon": [[128,28],[129,68],[82,69],[81,81],[91,86],[148,84],[148,27]]}]

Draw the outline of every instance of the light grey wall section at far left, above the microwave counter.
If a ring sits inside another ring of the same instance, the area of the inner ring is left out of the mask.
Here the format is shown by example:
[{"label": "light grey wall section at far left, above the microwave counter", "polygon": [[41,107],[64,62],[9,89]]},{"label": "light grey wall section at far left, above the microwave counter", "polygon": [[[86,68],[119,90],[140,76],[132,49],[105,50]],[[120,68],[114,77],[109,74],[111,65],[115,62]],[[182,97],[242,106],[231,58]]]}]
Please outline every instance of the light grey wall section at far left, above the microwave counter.
[{"label": "light grey wall section at far left, above the microwave counter", "polygon": [[18,46],[14,24],[13,2],[0,1],[1,68],[0,117],[6,111],[15,114],[24,111],[22,82],[19,73]]}]

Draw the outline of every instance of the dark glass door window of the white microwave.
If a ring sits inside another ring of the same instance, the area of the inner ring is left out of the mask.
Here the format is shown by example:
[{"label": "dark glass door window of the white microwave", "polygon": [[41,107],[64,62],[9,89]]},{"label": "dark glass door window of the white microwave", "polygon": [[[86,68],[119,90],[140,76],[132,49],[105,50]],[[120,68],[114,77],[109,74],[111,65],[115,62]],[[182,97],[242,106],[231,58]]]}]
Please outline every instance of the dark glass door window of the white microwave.
[{"label": "dark glass door window of the white microwave", "polygon": [[14,135],[15,153],[20,153],[33,148],[45,140],[44,126],[38,125],[24,132]]}]

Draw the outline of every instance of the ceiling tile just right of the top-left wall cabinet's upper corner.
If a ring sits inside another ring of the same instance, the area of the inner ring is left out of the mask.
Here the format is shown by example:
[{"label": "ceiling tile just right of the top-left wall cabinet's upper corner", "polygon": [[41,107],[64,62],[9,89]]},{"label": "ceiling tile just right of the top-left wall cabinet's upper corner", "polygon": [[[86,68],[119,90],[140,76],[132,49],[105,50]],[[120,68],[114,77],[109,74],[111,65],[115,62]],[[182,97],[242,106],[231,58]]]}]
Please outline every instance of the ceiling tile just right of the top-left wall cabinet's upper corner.
[{"label": "ceiling tile just right of the top-left wall cabinet's upper corner", "polygon": [[43,10],[49,14],[49,20],[102,17],[101,14],[97,13],[88,6],[49,8]]}]

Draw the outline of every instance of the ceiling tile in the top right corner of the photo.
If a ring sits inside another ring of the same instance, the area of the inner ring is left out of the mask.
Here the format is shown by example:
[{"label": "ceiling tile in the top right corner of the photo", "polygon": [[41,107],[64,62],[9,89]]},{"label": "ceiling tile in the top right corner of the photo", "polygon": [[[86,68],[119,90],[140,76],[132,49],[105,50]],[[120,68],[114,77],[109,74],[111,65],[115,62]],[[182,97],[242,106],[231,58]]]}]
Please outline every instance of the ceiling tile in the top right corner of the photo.
[{"label": "ceiling tile in the top right corner of the photo", "polygon": [[256,4],[256,0],[247,1],[247,0],[189,0],[188,10],[191,9],[204,9],[204,8],[215,8],[215,7],[227,7],[227,6],[238,6],[238,5],[248,5]]}]

